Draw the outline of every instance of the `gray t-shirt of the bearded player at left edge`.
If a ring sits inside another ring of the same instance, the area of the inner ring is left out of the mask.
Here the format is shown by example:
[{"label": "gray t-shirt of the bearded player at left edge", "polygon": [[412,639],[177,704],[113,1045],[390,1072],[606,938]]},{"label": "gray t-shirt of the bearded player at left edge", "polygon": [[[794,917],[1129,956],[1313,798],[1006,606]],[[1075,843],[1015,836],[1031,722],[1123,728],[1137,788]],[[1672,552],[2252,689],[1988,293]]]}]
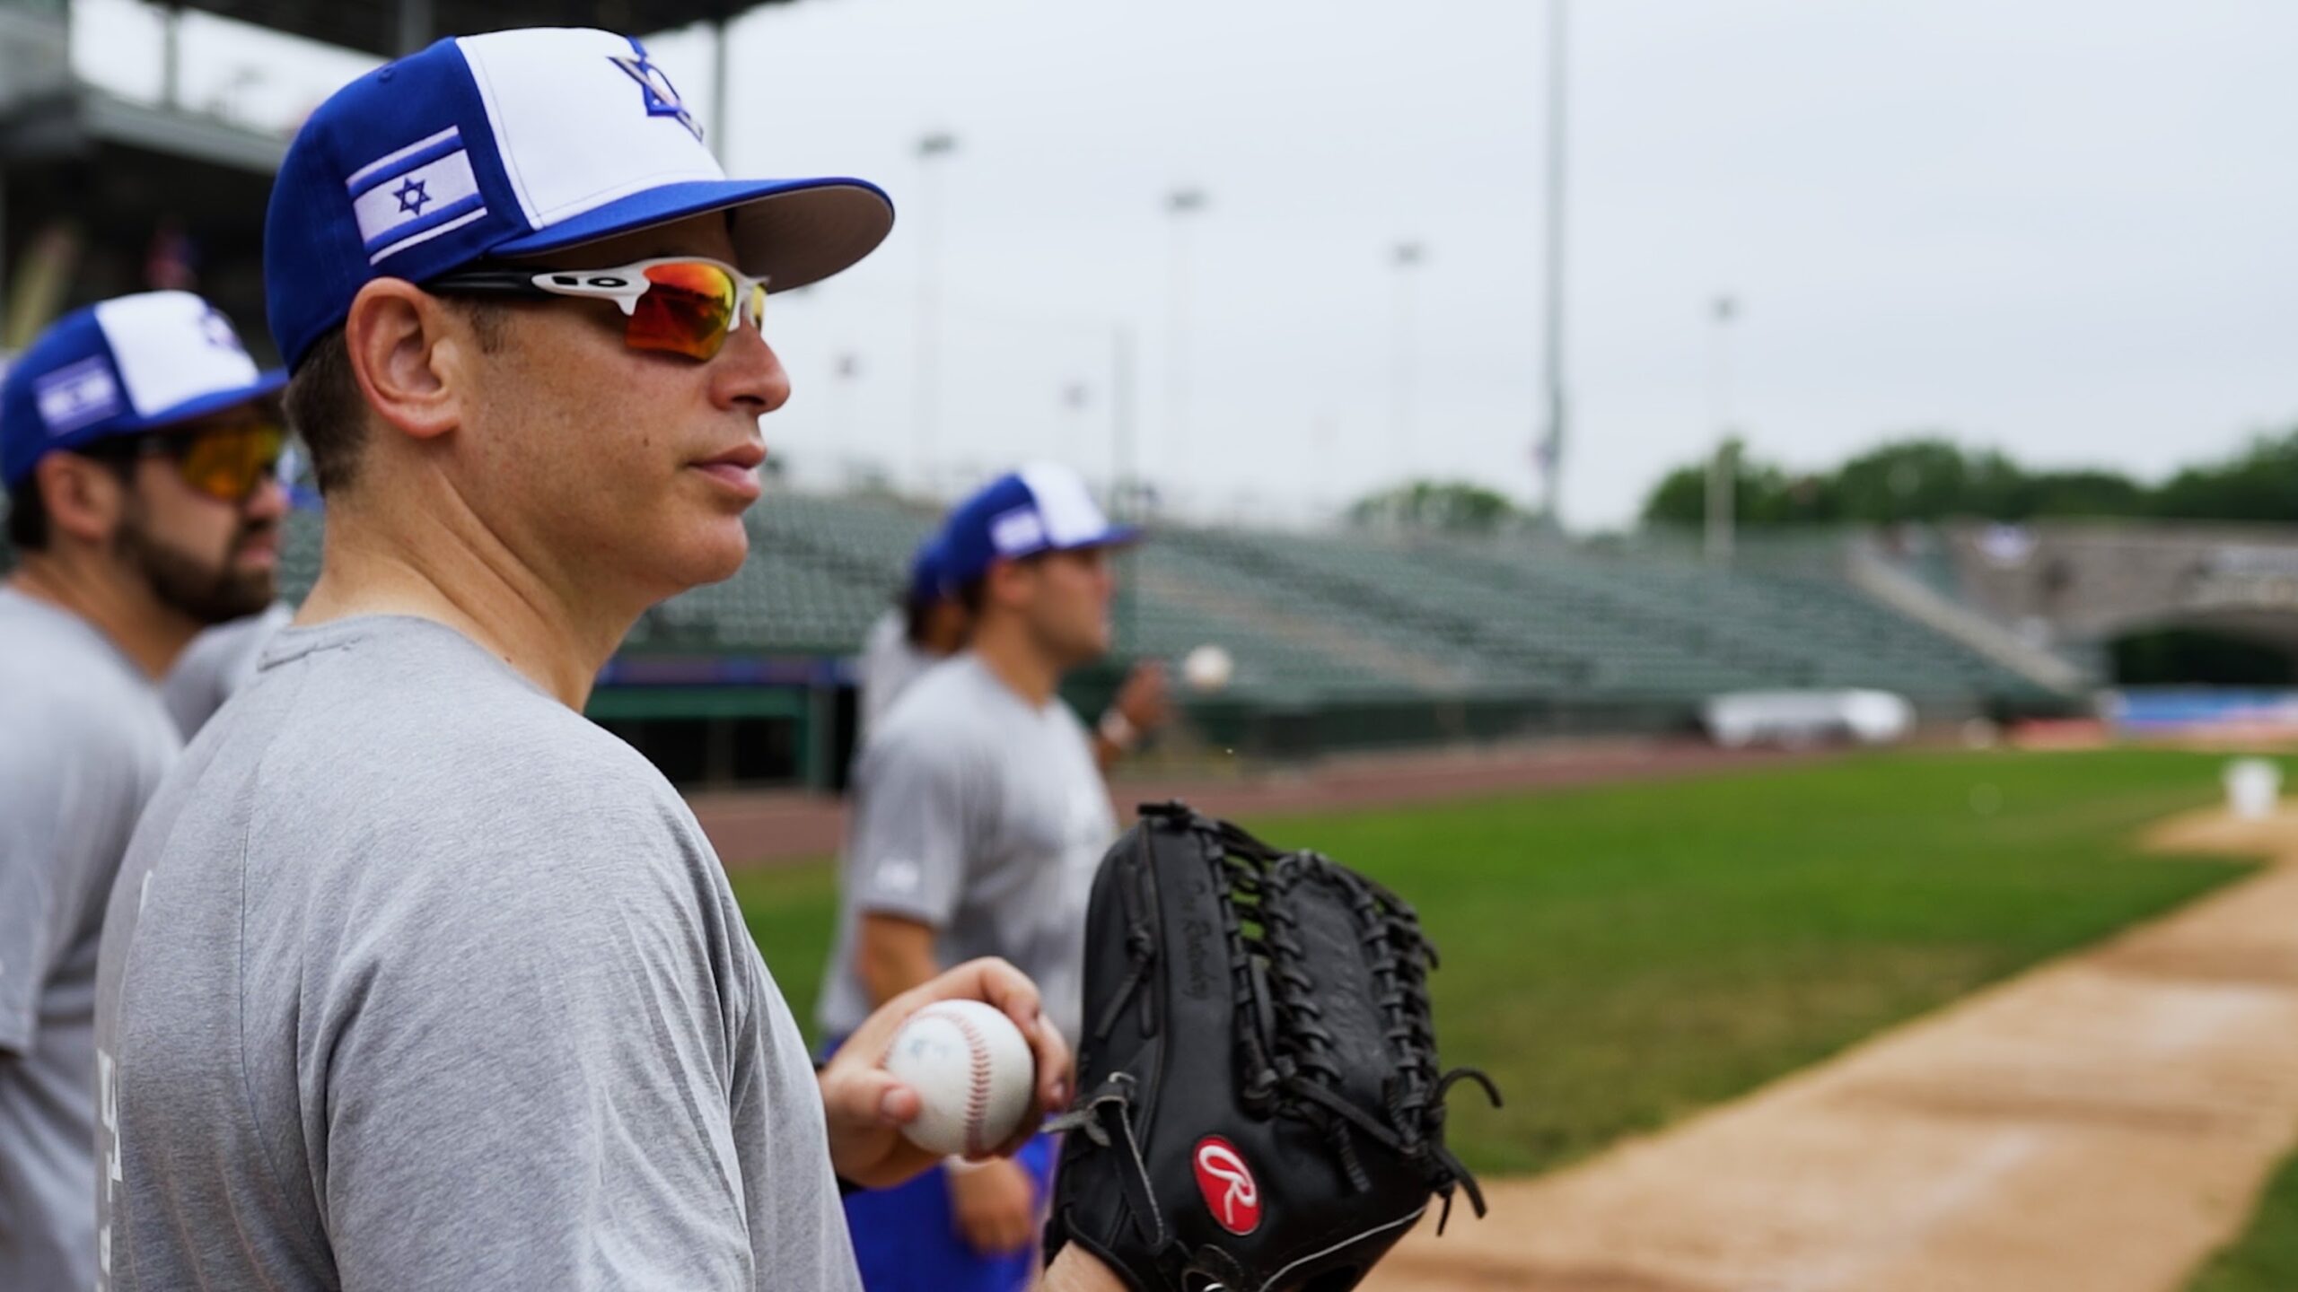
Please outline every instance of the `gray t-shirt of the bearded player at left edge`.
[{"label": "gray t-shirt of the bearded player at left edge", "polygon": [[175,756],[152,678],[0,589],[0,1287],[97,1278],[97,936]]}]

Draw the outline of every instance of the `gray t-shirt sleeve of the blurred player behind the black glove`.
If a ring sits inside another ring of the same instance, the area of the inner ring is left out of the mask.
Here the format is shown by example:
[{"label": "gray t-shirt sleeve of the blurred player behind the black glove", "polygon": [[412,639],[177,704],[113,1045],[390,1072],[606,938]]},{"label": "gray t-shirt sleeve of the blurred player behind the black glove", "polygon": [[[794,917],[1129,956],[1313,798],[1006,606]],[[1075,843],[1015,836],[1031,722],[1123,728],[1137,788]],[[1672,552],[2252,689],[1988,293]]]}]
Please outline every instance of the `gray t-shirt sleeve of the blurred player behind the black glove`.
[{"label": "gray t-shirt sleeve of the blurred player behind the black glove", "polygon": [[869,747],[848,844],[859,910],[949,924],[977,825],[965,775],[965,752],[949,740],[917,740],[896,729]]}]

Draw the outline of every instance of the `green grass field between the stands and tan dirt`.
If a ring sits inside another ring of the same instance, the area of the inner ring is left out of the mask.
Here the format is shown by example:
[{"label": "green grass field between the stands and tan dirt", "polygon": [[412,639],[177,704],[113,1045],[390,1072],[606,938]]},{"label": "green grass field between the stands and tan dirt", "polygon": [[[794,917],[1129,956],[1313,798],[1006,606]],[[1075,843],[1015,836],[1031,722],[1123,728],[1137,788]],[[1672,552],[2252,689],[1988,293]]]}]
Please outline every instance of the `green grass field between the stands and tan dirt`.
[{"label": "green grass field between the stands and tan dirt", "polygon": [[[2174,752],[1875,754],[1666,784],[1264,818],[1411,899],[1480,1170],[1544,1170],[2245,874],[2133,835],[2208,802]],[[827,864],[735,876],[809,1021]]]}]

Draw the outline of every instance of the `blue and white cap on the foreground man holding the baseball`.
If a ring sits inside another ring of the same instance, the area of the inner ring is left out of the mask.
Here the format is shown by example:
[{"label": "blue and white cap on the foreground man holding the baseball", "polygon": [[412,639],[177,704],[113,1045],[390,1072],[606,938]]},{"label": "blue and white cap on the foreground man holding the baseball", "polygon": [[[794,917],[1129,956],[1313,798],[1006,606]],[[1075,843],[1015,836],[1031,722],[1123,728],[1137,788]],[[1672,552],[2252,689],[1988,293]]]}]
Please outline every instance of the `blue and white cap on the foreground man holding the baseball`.
[{"label": "blue and white cap on the foreground man holding the baseball", "polygon": [[264,218],[271,336],[294,368],[370,278],[423,283],[708,212],[733,212],[735,267],[770,292],[894,228],[862,179],[728,179],[634,37],[448,37],[338,90],[287,145]]}]

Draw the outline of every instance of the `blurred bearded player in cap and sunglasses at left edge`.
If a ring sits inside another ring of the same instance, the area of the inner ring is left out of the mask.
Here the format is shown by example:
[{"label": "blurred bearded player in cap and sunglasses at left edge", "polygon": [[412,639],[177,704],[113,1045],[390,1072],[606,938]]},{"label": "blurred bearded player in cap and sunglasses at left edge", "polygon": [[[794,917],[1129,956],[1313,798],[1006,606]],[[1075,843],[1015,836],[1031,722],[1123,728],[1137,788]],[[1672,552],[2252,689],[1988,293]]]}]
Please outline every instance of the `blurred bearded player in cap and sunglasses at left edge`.
[{"label": "blurred bearded player in cap and sunglasses at left edge", "polygon": [[177,756],[154,678],[271,600],[280,375],[188,292],[55,322],[0,384],[0,1287],[97,1278],[97,936]]}]

